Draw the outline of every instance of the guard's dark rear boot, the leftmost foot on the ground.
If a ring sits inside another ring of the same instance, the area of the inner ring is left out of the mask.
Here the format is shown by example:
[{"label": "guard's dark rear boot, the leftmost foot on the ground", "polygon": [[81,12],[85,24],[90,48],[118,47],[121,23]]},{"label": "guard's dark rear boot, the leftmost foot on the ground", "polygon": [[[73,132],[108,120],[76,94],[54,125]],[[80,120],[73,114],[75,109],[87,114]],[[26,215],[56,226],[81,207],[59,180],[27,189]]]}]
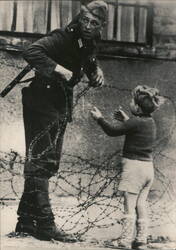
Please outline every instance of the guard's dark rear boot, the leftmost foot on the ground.
[{"label": "guard's dark rear boot, the leftmost foot on the ground", "polygon": [[17,234],[25,233],[35,236],[36,235],[35,221],[32,220],[31,218],[19,217],[18,222],[16,224],[15,233]]}]

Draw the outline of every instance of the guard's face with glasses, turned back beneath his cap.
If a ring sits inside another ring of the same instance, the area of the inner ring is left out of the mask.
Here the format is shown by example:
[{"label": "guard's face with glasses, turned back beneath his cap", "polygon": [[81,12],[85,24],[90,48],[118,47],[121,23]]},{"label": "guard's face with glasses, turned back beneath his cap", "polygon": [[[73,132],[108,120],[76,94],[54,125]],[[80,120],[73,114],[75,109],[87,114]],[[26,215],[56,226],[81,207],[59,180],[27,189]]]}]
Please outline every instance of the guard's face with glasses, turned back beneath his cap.
[{"label": "guard's face with glasses, turned back beneath his cap", "polygon": [[103,29],[103,22],[88,11],[82,13],[79,21],[81,35],[85,40],[97,37]]}]

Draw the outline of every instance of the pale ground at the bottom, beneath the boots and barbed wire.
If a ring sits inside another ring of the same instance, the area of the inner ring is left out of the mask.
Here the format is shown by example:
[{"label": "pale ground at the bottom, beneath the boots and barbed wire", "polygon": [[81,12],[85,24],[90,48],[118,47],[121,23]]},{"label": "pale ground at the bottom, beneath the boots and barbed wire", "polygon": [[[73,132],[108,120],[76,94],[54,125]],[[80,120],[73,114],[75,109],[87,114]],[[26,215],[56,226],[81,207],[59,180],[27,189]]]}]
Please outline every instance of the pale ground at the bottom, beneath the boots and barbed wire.
[{"label": "pale ground at the bottom, beneath the boots and barbed wire", "polygon": [[[60,211],[61,215],[64,211],[66,213],[67,209],[63,209],[65,206],[68,206],[68,204],[72,204],[74,206],[74,199],[73,198],[62,198],[60,202],[60,208],[58,211]],[[110,244],[112,243],[112,239],[117,238],[118,232],[120,231],[120,225],[117,224],[113,227],[109,228],[98,228],[95,227],[88,232],[86,232],[82,237],[82,242],[76,242],[76,243],[62,243],[62,242],[56,242],[56,241],[40,241],[33,237],[11,237],[9,238],[7,235],[10,232],[14,231],[16,220],[17,220],[17,202],[11,203],[11,204],[4,204],[1,207],[1,250],[33,250],[35,248],[37,249],[86,249],[86,250],[96,250],[96,249],[110,249],[112,248]],[[54,210],[56,211],[57,205],[54,205]],[[89,212],[89,220],[91,217],[95,216],[95,210],[92,210]],[[62,220],[62,219],[61,219]],[[56,217],[56,223],[59,224],[59,217]],[[106,221],[107,223],[107,221]],[[166,231],[167,229],[172,230],[174,233],[174,226],[173,228],[169,227],[167,228],[166,225]],[[159,229],[155,229],[151,231],[151,234],[157,234]],[[114,248],[114,247],[113,247]],[[176,241],[163,241],[163,242],[155,242],[155,243],[149,243],[148,249],[162,249],[162,250],[175,250],[176,249]]]}]

